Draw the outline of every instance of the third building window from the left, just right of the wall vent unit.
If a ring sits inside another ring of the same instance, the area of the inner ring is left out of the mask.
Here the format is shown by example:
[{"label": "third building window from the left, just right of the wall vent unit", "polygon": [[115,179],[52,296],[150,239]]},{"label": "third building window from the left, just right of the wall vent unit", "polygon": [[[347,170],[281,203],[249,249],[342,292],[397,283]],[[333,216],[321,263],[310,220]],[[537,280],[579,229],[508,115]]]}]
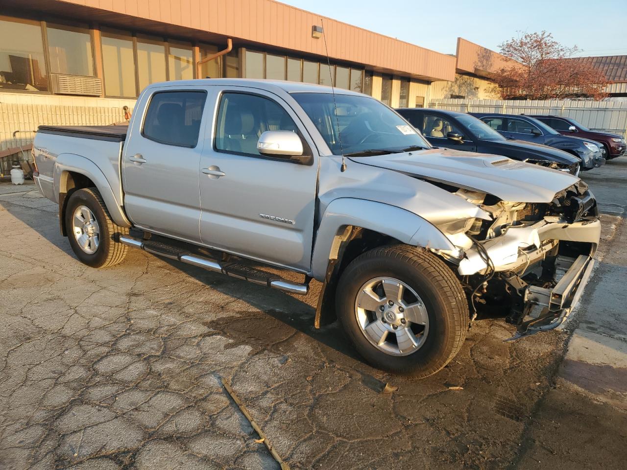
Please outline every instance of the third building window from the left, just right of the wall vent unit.
[{"label": "third building window from the left, just right of the wall vent unit", "polygon": [[109,97],[137,97],[135,56],[130,34],[102,33],[105,93]]}]

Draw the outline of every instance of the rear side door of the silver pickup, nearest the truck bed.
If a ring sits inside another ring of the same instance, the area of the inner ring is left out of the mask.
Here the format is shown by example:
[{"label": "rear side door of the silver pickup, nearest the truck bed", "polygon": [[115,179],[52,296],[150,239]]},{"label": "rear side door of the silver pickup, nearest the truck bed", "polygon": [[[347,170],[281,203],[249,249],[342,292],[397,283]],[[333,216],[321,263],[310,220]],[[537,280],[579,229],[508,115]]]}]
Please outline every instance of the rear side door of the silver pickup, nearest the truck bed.
[{"label": "rear side door of the silver pickup, nearest the truck bed", "polygon": [[200,87],[164,88],[142,97],[147,108],[143,119],[132,123],[122,160],[124,207],[136,226],[200,241],[199,162],[206,98]]}]

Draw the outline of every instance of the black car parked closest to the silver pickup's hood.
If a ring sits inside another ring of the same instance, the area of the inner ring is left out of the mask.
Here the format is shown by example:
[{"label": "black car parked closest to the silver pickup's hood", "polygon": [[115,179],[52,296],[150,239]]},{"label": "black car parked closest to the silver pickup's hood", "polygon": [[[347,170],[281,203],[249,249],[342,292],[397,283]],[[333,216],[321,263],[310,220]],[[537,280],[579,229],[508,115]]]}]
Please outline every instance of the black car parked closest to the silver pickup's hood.
[{"label": "black car parked closest to the silver pickup's hood", "polygon": [[396,111],[437,147],[503,155],[514,160],[549,165],[572,175],[579,175],[581,169],[579,157],[545,145],[508,140],[467,113],[425,108],[400,108]]}]

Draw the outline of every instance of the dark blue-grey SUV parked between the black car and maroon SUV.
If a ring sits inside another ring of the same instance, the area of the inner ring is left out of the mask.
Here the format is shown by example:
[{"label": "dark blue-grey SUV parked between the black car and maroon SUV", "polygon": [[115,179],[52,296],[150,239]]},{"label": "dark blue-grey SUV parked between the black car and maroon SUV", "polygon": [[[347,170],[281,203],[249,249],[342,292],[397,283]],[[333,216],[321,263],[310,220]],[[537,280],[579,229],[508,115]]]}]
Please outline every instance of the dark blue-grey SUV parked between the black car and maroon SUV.
[{"label": "dark blue-grey SUV parked between the black car and maroon SUV", "polygon": [[498,113],[470,114],[501,133],[503,137],[548,145],[576,155],[581,159],[582,170],[591,170],[605,164],[605,149],[598,142],[562,135],[535,118]]}]

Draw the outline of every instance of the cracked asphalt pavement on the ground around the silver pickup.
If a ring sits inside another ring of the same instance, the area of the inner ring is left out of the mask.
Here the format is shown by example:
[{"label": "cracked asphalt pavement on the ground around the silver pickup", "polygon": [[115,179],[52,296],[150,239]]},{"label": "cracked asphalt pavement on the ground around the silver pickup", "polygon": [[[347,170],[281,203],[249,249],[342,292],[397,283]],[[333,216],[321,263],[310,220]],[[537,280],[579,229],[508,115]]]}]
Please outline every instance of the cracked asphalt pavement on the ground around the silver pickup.
[{"label": "cracked asphalt pavement on the ground around the silver pickup", "polygon": [[[584,179],[609,253],[627,238],[627,157]],[[292,469],[624,468],[626,410],[561,378],[589,301],[517,342],[477,321],[442,372],[402,379],[314,329],[318,285],[300,298],[142,251],[88,268],[56,211],[32,183],[0,184],[1,469],[278,469],[221,378]],[[624,290],[597,278],[595,295]]]}]

